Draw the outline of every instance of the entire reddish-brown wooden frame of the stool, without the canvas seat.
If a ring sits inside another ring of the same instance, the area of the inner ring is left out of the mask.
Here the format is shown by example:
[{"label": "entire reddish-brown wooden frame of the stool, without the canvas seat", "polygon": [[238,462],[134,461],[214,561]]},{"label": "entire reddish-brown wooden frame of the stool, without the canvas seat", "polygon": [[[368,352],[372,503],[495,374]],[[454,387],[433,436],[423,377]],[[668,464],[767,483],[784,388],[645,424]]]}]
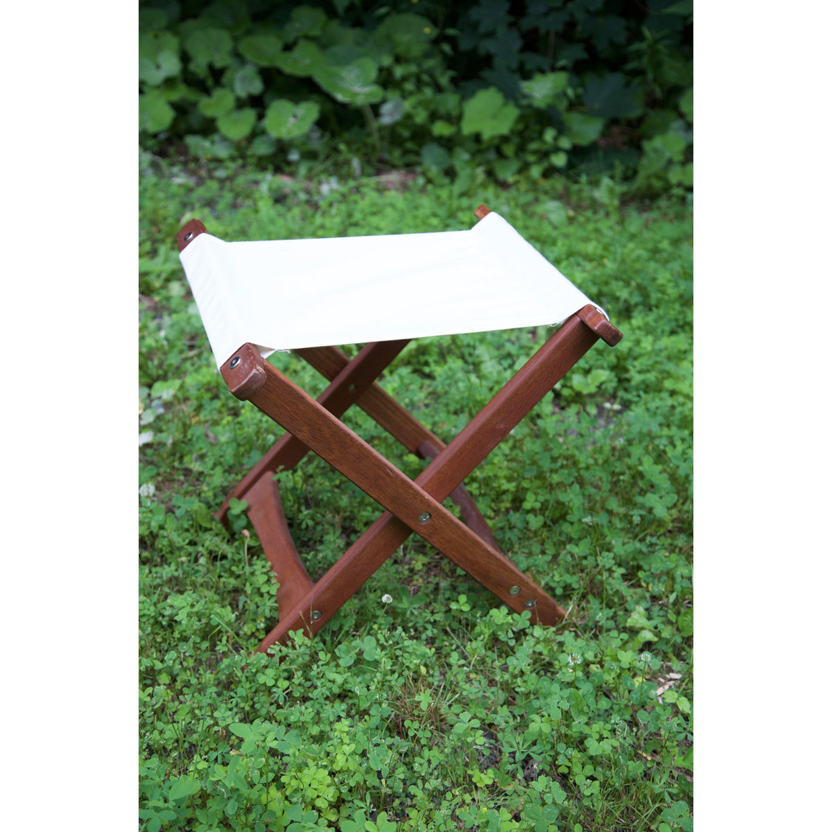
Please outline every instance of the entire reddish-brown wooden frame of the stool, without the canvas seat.
[{"label": "entire reddish-brown wooden frame of the stool, without the canvas seat", "polygon": [[[480,206],[478,219],[488,213]],[[179,231],[180,251],[206,230],[191,220]],[[593,305],[572,314],[491,401],[447,445],[379,387],[379,377],[409,340],[365,344],[354,359],[336,347],[293,350],[329,386],[313,399],[266,362],[253,344],[241,344],[220,368],[237,399],[250,401],[287,433],[225,499],[216,516],[227,518],[230,500],[247,503],[248,516],[280,583],[279,622],[259,651],[287,639],[291,631],[314,634],[398,549],[412,532],[533,622],[561,622],[566,613],[500,551],[463,480],[525,417],[598,339],[610,346],[622,334]],[[432,461],[411,480],[348,428],[341,416],[353,404],[364,410],[410,453]],[[344,474],[385,512],[317,582],[292,540],[275,473],[290,470],[312,450]],[[442,505],[452,498],[463,521]]]}]

